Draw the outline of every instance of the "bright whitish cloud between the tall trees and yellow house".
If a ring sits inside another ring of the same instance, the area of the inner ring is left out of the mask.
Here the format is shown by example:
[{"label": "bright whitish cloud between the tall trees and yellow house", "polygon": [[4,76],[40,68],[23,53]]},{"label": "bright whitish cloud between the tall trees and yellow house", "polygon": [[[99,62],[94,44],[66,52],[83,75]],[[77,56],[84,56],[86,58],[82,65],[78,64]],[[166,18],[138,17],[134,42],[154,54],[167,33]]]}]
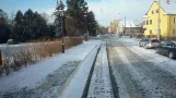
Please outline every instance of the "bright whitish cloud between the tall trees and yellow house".
[{"label": "bright whitish cloud between the tall trees and yellow house", "polygon": [[99,24],[108,26],[113,20],[141,21],[153,0],[102,0],[101,2],[89,2]]}]

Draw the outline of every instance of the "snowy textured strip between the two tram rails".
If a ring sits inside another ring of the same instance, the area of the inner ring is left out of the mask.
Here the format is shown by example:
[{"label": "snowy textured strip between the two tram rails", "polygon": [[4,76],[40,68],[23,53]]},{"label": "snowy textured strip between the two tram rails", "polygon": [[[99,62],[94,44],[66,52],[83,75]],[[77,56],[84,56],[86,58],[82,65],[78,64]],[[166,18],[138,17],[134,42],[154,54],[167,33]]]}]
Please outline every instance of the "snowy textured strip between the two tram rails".
[{"label": "snowy textured strip between the two tram rails", "polygon": [[96,58],[87,98],[114,98],[105,44]]}]

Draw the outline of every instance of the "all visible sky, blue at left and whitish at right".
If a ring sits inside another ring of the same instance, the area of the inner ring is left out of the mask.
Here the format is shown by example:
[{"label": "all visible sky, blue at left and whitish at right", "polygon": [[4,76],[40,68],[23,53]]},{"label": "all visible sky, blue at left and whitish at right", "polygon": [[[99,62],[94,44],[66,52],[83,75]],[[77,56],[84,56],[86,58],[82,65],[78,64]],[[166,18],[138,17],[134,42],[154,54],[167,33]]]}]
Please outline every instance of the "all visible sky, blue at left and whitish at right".
[{"label": "all visible sky, blue at left and whitish at right", "polygon": [[[128,21],[142,20],[154,0],[86,0],[95,13],[99,24],[108,26],[113,20],[122,20],[124,13]],[[163,0],[165,1],[165,0]],[[66,0],[63,0],[66,2]],[[55,11],[56,0],[0,0],[0,9],[8,12],[9,16],[17,10],[27,9],[51,14]]]}]

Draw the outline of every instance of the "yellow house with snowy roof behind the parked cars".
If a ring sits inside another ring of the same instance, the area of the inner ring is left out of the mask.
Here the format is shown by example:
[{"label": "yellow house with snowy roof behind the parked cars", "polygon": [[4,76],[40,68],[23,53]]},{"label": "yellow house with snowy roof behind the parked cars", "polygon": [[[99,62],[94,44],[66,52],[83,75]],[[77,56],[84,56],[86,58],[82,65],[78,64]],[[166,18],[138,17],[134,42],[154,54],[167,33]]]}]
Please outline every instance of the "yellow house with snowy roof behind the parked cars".
[{"label": "yellow house with snowy roof behind the parked cars", "polygon": [[[164,1],[164,0],[163,0]],[[162,2],[160,7],[160,34],[162,38],[176,38],[176,3]],[[157,36],[159,2],[154,1],[143,16],[143,28],[146,37]]]}]

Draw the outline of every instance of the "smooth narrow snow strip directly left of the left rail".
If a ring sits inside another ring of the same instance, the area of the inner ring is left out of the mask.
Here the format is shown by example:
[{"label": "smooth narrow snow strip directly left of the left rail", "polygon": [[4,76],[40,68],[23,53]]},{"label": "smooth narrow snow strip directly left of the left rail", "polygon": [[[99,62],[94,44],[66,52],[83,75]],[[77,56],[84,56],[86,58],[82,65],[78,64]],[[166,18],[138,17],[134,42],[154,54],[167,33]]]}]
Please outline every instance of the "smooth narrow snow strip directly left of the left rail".
[{"label": "smooth narrow snow strip directly left of the left rail", "polygon": [[80,64],[78,71],[74,73],[70,83],[67,84],[66,89],[59,98],[81,98],[86,85],[89,73],[93,65],[96,52],[99,46],[95,47],[92,52]]}]

